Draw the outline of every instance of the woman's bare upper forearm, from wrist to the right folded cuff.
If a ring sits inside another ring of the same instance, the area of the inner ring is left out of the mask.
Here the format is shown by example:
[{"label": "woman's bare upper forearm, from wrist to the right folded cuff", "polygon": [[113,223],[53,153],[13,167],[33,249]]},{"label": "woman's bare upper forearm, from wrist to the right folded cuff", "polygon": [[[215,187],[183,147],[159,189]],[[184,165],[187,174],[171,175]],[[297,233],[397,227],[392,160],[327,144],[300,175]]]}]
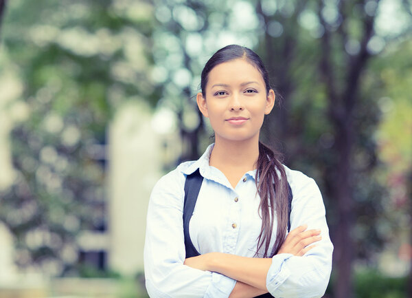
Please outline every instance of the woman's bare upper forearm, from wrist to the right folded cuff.
[{"label": "woman's bare upper forearm, from wrist to the right folded cuff", "polygon": [[207,270],[267,292],[266,275],[272,264],[271,258],[240,257],[228,253],[211,253],[209,257]]}]

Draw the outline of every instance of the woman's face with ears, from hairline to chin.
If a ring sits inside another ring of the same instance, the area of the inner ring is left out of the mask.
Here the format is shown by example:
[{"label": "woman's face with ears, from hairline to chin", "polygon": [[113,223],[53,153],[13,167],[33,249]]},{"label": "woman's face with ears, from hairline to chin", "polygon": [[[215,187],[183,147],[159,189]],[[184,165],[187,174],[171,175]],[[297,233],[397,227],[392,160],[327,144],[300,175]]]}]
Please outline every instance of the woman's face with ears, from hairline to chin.
[{"label": "woman's face with ears, from hairline to chin", "polygon": [[216,141],[259,138],[264,115],[275,102],[273,90],[266,93],[259,70],[239,58],[216,65],[207,78],[205,94],[198,93],[196,100],[210,120]]}]

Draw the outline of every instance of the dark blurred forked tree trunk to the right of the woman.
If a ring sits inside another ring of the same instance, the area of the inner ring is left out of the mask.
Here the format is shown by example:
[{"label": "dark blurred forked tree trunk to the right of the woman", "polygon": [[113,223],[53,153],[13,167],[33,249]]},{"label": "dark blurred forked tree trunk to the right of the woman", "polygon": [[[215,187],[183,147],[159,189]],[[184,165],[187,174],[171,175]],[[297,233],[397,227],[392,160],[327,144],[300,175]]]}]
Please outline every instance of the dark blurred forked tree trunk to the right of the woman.
[{"label": "dark blurred forked tree trunk to the right of the woman", "polygon": [[[379,0],[376,1],[378,4]],[[342,11],[343,8],[342,8]],[[319,14],[321,16],[321,14]],[[354,243],[352,241],[352,228],[354,226],[353,216],[353,185],[354,169],[352,168],[352,147],[358,136],[354,127],[354,111],[359,101],[357,94],[360,89],[361,73],[365,69],[370,54],[367,52],[367,43],[374,36],[374,16],[365,17],[363,23],[363,35],[361,36],[361,49],[356,56],[347,56],[348,69],[345,75],[344,88],[342,92],[336,92],[338,78],[332,67],[332,32],[325,31],[322,38],[323,57],[321,59],[321,73],[327,87],[329,103],[328,116],[334,125],[335,144],[337,153],[336,169],[331,169],[333,179],[330,181],[332,200],[337,201],[334,268],[336,269],[336,281],[334,288],[335,298],[354,297],[352,280],[352,262],[354,260]],[[343,16],[344,17],[344,16]],[[321,17],[323,25],[325,21]],[[342,22],[345,23],[345,20]],[[337,30],[345,41],[347,32],[345,28]]]}]

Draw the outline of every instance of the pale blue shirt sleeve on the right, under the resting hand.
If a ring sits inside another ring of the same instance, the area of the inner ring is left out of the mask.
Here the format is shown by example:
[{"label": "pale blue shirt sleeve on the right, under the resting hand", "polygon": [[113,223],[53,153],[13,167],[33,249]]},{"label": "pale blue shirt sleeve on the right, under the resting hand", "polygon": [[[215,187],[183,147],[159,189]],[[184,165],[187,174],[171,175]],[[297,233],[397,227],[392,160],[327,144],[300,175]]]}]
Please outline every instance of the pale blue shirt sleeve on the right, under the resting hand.
[{"label": "pale blue shirt sleeve on the right, under the resting hand", "polygon": [[333,244],[321,192],[313,179],[301,173],[290,186],[293,189],[290,230],[308,224],[308,229],[321,229],[322,240],[302,257],[288,253],[273,256],[266,287],[279,298],[322,297],[332,270]]}]

